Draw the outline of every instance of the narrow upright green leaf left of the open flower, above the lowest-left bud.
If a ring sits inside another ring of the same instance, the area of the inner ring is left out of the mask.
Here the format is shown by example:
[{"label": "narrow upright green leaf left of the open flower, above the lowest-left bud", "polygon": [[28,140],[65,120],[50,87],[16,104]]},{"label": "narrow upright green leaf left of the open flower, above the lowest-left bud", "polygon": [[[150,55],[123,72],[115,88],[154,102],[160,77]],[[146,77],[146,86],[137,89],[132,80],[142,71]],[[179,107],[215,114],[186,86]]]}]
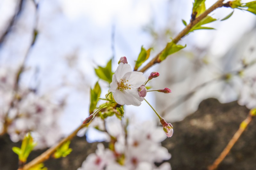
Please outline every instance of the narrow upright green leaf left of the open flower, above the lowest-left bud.
[{"label": "narrow upright green leaf left of the open flower, above the lowest-left bud", "polygon": [[93,110],[96,108],[97,103],[99,101],[101,89],[98,81],[96,82],[95,86],[93,89],[91,89],[91,103],[90,103],[90,109],[89,112],[90,114],[93,113]]}]

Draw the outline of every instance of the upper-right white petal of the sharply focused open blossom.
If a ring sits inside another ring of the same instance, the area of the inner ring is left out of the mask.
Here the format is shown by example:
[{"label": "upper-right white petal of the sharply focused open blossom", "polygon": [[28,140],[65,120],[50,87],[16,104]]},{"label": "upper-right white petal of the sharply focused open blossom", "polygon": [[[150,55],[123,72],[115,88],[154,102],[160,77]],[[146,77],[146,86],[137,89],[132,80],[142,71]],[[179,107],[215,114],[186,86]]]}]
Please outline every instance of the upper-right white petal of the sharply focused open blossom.
[{"label": "upper-right white petal of the sharply focused open blossom", "polygon": [[124,74],[123,79],[128,80],[131,88],[139,88],[146,81],[143,73],[137,71],[132,71]]}]

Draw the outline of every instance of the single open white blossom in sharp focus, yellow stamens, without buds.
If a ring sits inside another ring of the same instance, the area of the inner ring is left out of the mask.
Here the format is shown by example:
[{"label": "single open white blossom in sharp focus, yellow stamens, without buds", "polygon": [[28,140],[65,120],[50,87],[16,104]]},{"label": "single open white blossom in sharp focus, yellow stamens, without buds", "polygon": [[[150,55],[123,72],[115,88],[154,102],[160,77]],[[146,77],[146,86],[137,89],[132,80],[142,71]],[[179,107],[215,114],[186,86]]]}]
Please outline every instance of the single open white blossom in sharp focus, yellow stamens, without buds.
[{"label": "single open white blossom in sharp focus, yellow stamens, without buds", "polygon": [[129,64],[120,63],[112,77],[109,91],[113,92],[118,104],[140,106],[144,97],[139,96],[137,89],[145,80],[143,73],[132,71]]}]

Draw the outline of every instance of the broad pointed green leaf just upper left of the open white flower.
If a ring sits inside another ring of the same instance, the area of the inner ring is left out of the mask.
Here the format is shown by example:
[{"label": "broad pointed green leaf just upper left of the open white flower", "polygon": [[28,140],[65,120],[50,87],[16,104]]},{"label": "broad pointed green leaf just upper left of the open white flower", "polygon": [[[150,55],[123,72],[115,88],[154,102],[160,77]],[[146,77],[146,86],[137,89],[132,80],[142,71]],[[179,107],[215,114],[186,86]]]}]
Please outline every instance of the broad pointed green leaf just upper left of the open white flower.
[{"label": "broad pointed green leaf just upper left of the open white flower", "polygon": [[112,82],[112,75],[114,74],[112,72],[112,60],[108,61],[108,64],[106,67],[100,67],[98,66],[98,68],[95,68],[95,73],[96,75],[102,79],[107,81],[108,83]]}]

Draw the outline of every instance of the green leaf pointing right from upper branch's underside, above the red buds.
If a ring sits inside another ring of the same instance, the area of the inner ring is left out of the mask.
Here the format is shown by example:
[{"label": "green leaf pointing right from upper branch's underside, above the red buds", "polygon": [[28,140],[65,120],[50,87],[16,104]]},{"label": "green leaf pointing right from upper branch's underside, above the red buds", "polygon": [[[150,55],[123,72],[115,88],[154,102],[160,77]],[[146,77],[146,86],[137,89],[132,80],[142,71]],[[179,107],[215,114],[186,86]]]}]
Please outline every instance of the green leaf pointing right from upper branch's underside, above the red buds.
[{"label": "green leaf pointing right from upper branch's underside, above the red buds", "polygon": [[167,43],[166,47],[164,48],[164,51],[160,54],[159,60],[163,61],[164,59],[166,59],[166,57],[168,55],[176,53],[176,52],[180,51],[182,48],[185,48],[185,47],[186,47],[186,45],[181,46],[181,45],[176,45],[173,42],[169,42],[169,43]]}]

